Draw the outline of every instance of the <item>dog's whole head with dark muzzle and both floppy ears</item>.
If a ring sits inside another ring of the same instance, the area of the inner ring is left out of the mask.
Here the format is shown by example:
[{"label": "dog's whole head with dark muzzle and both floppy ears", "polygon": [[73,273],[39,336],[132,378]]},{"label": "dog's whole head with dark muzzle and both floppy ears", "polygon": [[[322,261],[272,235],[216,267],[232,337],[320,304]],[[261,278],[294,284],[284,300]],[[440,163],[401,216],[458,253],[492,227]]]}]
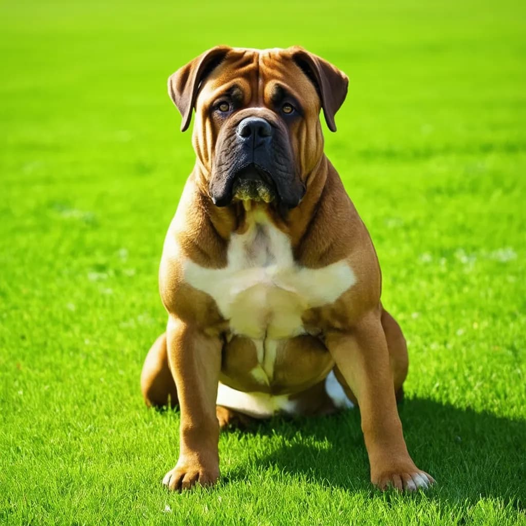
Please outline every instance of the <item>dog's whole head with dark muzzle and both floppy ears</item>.
[{"label": "dog's whole head with dark muzzle and both floppy ears", "polygon": [[298,47],[217,47],[174,73],[168,89],[183,130],[196,108],[193,144],[215,205],[294,208],[323,154],[320,108],[335,131],[347,77]]}]

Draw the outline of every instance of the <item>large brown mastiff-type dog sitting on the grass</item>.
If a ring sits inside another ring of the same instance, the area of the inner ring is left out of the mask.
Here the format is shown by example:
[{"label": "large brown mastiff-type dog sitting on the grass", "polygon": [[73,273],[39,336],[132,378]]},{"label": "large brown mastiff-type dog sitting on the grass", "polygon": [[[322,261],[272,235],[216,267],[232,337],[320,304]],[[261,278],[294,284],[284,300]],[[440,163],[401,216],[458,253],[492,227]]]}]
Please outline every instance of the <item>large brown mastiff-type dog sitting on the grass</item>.
[{"label": "large brown mastiff-type dog sitting on the grass", "polygon": [[197,160],[166,236],[166,333],[141,376],[178,403],[171,490],[219,478],[218,434],[240,414],[360,406],[371,481],[427,488],[396,406],[406,342],[380,303],[375,249],[323,153],[347,77],[300,47],[215,47],[169,78]]}]

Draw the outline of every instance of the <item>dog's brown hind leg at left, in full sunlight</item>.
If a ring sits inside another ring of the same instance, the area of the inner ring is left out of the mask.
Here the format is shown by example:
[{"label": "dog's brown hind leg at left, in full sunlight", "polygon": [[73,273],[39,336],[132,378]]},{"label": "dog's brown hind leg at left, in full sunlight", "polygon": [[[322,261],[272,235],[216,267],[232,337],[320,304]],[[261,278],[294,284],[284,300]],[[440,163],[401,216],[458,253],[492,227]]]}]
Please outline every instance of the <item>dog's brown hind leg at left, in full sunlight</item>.
[{"label": "dog's brown hind leg at left, in full sunlight", "polygon": [[147,406],[177,406],[177,389],[168,366],[165,332],[155,340],[146,355],[140,388]]}]

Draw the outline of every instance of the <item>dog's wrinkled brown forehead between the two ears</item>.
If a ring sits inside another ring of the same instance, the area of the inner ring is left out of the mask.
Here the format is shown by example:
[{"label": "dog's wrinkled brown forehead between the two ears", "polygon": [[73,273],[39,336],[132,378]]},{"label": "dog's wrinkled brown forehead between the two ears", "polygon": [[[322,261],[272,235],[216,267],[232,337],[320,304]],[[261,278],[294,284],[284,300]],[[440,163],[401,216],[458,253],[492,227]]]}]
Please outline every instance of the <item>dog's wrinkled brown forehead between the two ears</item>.
[{"label": "dog's wrinkled brown forehead between the two ears", "polygon": [[242,96],[244,105],[269,105],[289,95],[319,109],[315,86],[286,49],[232,49],[200,87],[197,105],[223,94]]}]

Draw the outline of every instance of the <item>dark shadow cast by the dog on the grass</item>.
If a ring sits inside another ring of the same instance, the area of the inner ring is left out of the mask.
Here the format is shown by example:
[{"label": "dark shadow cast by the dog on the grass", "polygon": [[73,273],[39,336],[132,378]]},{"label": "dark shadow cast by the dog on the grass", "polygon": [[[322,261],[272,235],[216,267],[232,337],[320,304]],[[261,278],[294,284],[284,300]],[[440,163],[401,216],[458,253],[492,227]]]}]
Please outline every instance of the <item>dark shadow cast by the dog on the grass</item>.
[{"label": "dark shadow cast by the dog on the grass", "polygon": [[[418,398],[406,399],[399,412],[413,460],[437,479],[429,498],[474,503],[492,497],[526,507],[525,421]],[[230,432],[226,440],[242,440],[243,433]],[[247,458],[223,470],[227,484],[247,480],[247,464],[255,462],[328,488],[371,488],[357,409],[323,418],[274,418],[248,433],[271,438],[271,444],[261,448],[266,453],[247,448]]]}]

